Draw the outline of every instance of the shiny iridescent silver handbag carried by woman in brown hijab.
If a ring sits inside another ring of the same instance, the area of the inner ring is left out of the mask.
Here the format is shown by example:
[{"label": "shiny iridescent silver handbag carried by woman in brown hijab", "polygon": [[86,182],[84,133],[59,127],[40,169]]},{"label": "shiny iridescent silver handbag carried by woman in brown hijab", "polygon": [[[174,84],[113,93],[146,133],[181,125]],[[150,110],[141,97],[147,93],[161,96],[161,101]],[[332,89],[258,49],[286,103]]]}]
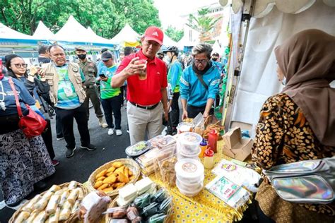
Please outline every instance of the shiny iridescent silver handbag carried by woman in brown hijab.
[{"label": "shiny iridescent silver handbag carried by woman in brown hijab", "polygon": [[276,193],[292,203],[327,204],[335,195],[335,156],[264,170]]}]

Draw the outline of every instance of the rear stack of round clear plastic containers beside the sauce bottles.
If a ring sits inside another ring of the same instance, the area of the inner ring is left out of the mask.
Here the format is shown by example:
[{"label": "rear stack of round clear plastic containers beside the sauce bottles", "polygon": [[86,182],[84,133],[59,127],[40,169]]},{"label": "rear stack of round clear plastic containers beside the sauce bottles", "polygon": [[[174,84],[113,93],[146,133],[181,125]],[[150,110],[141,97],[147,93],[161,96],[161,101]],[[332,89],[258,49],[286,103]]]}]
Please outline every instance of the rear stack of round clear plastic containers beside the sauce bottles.
[{"label": "rear stack of round clear plastic containers beside the sauce bottles", "polygon": [[201,135],[197,133],[182,133],[178,138],[177,147],[183,155],[199,155],[200,143],[202,142]]}]

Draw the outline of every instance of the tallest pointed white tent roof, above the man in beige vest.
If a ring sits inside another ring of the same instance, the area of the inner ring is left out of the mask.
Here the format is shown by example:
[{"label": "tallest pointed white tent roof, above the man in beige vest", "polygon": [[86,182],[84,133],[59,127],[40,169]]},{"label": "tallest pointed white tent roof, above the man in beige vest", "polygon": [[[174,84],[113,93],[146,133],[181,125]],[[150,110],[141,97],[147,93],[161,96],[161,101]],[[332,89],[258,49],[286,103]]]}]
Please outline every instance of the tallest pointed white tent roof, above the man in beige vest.
[{"label": "tallest pointed white tent roof, above the man in beige vest", "polygon": [[112,44],[110,40],[93,35],[92,32],[83,27],[81,23],[78,23],[74,16],[70,16],[64,26],[54,35],[53,40]]}]

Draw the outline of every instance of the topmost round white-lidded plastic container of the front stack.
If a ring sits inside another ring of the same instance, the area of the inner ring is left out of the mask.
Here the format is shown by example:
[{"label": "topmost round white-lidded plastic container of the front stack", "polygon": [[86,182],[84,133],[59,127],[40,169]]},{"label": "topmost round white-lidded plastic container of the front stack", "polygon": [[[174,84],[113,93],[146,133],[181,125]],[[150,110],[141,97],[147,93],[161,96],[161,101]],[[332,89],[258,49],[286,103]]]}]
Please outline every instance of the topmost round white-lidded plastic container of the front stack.
[{"label": "topmost round white-lidded plastic container of the front stack", "polygon": [[204,166],[196,159],[180,159],[175,164],[178,179],[184,183],[196,183],[204,177]]}]

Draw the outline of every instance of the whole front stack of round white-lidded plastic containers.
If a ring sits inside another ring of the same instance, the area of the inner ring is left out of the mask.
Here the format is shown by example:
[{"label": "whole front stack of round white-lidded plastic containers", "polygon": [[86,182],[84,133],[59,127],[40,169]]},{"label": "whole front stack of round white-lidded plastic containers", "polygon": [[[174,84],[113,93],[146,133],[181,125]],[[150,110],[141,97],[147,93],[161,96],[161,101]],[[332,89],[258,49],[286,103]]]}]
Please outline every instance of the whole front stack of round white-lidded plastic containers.
[{"label": "whole front stack of round white-lidded plastic containers", "polygon": [[198,160],[180,159],[175,171],[177,188],[187,197],[194,197],[204,187],[204,166]]}]

